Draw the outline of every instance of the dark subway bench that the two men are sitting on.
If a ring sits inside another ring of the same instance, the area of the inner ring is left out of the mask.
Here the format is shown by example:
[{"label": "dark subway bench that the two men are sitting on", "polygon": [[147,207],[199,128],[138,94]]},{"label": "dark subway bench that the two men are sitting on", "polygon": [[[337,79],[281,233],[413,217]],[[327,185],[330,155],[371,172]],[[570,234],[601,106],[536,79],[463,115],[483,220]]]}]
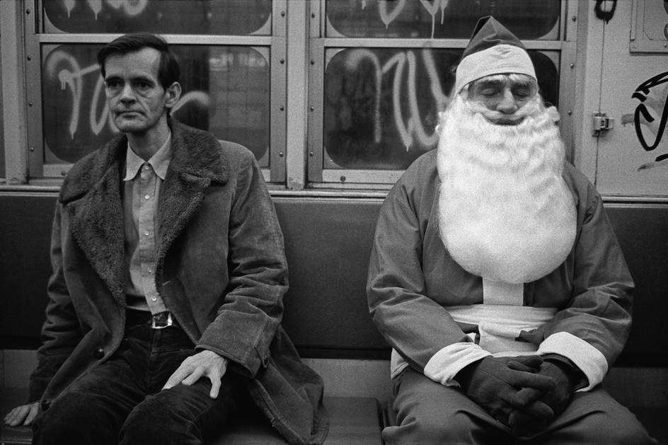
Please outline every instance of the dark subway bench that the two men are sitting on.
[{"label": "dark subway bench that the two men are sitting on", "polygon": [[[55,193],[0,194],[0,245],[4,248],[0,255],[0,349],[30,350],[40,345],[56,197]],[[382,426],[393,422],[387,409],[391,406],[390,349],[369,316],[365,286],[382,199],[274,196],[273,200],[289,265],[290,289],[284,299],[282,325],[301,357],[325,381],[331,423],[325,443],[380,444]],[[668,444],[668,330],[664,329],[668,320],[668,203],[606,202],[606,209],[636,289],[633,329],[604,386],[638,416],[660,444]],[[8,355],[5,369],[10,365]],[[20,376],[25,386],[29,372],[17,373],[25,374]],[[6,373],[4,380],[8,377]],[[16,395],[11,403],[9,396],[0,395],[3,415],[7,408],[25,401],[25,393]],[[386,408],[380,417],[383,420],[379,420],[379,403]],[[29,434],[28,429],[3,429],[2,441],[29,443],[26,432]],[[23,442],[9,441],[13,437],[23,437]],[[219,444],[282,443],[268,425],[243,422],[219,440]]]}]

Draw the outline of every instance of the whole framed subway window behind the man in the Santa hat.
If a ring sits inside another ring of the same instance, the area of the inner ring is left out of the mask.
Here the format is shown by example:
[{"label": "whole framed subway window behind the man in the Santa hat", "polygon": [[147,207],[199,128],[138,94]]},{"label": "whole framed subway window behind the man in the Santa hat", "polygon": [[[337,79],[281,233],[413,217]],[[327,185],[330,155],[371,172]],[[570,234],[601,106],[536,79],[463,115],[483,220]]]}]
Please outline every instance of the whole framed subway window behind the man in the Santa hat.
[{"label": "whole framed subway window behind the man in the Santa hat", "polygon": [[393,183],[437,145],[438,113],[478,18],[493,15],[527,42],[539,86],[558,105],[565,2],[349,1],[312,4],[309,180]]}]

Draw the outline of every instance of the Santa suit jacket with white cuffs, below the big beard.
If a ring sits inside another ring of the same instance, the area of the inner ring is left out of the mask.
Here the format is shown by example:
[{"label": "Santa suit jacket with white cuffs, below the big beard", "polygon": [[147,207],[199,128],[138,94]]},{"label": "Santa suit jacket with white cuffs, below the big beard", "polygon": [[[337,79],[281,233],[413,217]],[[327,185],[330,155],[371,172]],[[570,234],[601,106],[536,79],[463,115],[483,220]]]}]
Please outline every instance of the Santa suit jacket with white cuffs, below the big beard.
[{"label": "Santa suit jacket with white cuffs, below the big beard", "polygon": [[[469,353],[476,349],[466,333],[476,327],[456,323],[447,308],[482,304],[483,284],[450,257],[439,236],[436,159],[436,150],[418,158],[386,197],[367,295],[374,323],[398,357],[450,386],[457,384],[456,372],[484,355],[479,348]],[[626,342],[633,280],[594,186],[568,163],[563,178],[577,209],[575,243],[556,270],[524,284],[524,306],[556,313],[521,338],[534,343],[537,354],[571,359],[587,376],[587,391]]]}]

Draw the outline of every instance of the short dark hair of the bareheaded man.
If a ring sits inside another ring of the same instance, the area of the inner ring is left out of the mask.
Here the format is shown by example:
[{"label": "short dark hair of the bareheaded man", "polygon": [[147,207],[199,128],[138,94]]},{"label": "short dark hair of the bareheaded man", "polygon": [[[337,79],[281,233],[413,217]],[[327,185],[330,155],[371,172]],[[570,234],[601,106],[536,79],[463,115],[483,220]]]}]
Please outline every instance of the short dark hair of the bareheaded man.
[{"label": "short dark hair of the bareheaded man", "polygon": [[167,89],[174,82],[178,82],[180,69],[176,56],[169,49],[166,40],[160,35],[151,33],[132,33],[115,38],[104,45],[98,52],[98,64],[102,77],[105,77],[105,61],[112,54],[127,54],[144,48],[154,48],[160,52],[160,65],[158,67],[158,80],[163,89]]}]

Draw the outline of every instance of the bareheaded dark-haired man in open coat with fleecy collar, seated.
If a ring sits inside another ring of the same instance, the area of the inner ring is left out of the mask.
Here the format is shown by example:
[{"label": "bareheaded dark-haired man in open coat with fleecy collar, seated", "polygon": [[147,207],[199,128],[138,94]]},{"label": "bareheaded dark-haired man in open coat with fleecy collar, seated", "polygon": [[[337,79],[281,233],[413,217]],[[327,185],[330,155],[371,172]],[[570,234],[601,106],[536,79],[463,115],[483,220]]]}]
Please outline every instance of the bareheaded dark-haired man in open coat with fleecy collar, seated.
[{"label": "bareheaded dark-haired man in open coat with fleecy collar, seated", "polygon": [[98,62],[123,134],[64,181],[30,403],[5,422],[37,444],[197,444],[252,400],[289,443],[321,443],[322,381],[280,326],[283,238],[253,154],[171,120],[161,37],[119,37]]}]

